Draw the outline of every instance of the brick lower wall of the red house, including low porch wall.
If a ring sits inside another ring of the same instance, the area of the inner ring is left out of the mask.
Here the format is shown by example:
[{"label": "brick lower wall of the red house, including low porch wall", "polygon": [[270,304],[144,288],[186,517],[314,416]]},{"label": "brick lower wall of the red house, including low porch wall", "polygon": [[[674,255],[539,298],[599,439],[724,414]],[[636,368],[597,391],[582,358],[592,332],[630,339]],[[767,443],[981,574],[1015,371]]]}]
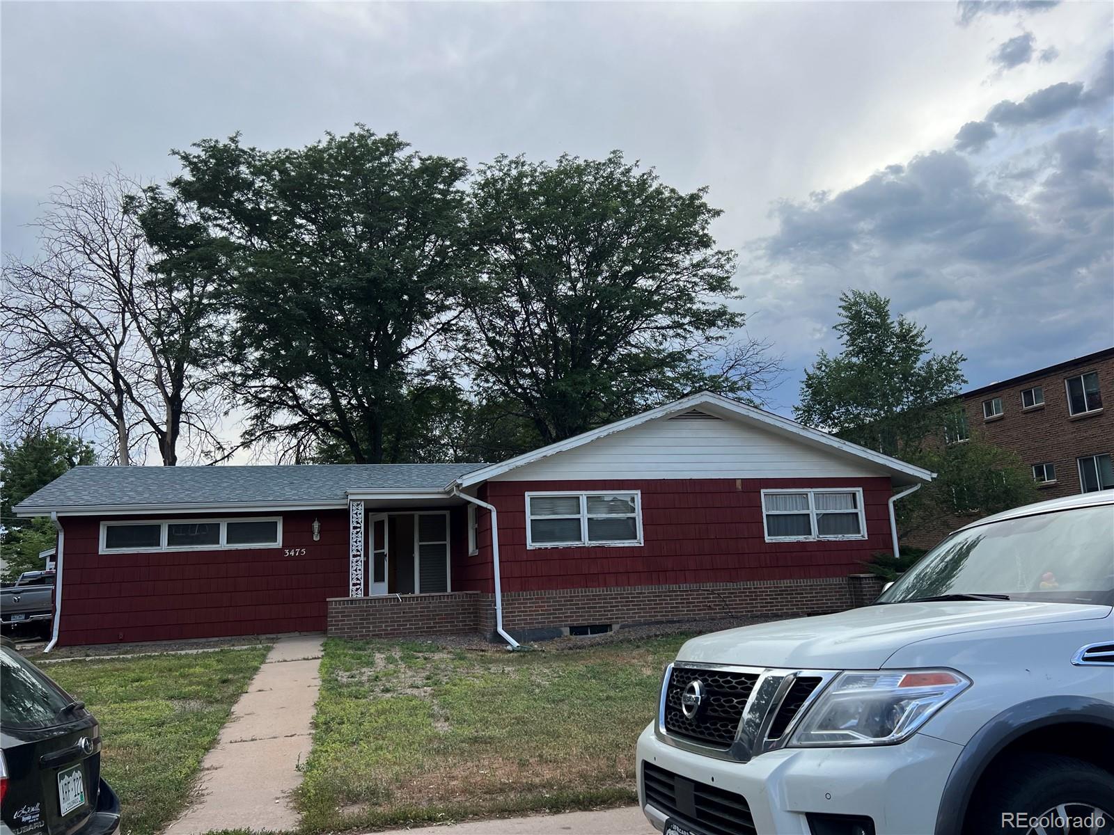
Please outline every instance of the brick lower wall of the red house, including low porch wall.
[{"label": "brick lower wall of the red house, including low porch wall", "polygon": [[[600,589],[514,591],[502,596],[511,633],[595,623],[647,623],[722,617],[794,617],[842,611],[872,602],[881,580],[872,574],[812,580],[684,583]],[[333,598],[329,635],[395,638],[495,632],[495,598],[475,591]]]}]

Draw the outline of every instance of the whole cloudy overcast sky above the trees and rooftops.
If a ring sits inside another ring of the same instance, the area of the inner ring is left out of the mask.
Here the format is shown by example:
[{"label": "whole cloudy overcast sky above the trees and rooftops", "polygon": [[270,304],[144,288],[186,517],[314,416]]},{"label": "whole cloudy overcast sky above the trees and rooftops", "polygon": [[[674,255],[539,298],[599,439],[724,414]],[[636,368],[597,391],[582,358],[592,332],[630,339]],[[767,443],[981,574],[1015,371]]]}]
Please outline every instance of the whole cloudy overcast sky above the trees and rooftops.
[{"label": "whole cloudy overcast sky above the trees and rooftops", "polygon": [[51,186],[364,122],[709,186],[789,373],[878,289],[981,385],[1114,345],[1112,4],[2,4],[2,247]]}]

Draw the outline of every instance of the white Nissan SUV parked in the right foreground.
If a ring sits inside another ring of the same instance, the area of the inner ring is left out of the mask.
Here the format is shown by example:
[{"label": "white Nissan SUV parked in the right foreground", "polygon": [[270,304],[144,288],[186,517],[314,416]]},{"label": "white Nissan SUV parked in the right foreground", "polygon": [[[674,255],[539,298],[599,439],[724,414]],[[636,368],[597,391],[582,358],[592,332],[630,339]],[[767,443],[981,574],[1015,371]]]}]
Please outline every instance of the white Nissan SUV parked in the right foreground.
[{"label": "white Nissan SUV parked in the right foreground", "polygon": [[687,641],[637,744],[666,835],[1114,833],[1114,491],[937,546],[871,606]]}]

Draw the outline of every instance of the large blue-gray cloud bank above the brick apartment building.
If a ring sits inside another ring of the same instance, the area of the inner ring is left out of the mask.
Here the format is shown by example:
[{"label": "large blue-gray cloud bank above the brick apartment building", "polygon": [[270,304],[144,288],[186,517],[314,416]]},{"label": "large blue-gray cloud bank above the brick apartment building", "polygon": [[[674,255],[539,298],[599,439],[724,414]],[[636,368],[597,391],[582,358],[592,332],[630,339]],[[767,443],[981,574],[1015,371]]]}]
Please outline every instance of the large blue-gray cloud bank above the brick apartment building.
[{"label": "large blue-gray cloud bank above the brick apartment building", "polygon": [[[832,346],[832,299],[848,287],[889,295],[939,348],[966,353],[973,383],[1107,347],[1114,126],[1094,118],[1051,136],[1034,128],[1035,141],[1020,136],[1025,147],[993,167],[934,151],[783,202],[778,232],[747,253],[741,288],[797,337],[786,355],[802,364]],[[960,134],[974,141],[984,125]]]}]

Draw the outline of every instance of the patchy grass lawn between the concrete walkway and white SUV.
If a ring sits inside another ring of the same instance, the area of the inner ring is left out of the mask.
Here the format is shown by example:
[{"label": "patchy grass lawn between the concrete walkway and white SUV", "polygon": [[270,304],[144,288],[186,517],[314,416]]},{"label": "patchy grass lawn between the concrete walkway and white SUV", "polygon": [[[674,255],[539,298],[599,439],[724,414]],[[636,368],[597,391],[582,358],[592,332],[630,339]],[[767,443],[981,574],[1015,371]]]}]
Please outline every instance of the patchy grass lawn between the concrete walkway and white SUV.
[{"label": "patchy grass lawn between the concrete walkway and white SUV", "polygon": [[635,802],[635,739],[685,637],[534,652],[329,639],[303,831]]}]

